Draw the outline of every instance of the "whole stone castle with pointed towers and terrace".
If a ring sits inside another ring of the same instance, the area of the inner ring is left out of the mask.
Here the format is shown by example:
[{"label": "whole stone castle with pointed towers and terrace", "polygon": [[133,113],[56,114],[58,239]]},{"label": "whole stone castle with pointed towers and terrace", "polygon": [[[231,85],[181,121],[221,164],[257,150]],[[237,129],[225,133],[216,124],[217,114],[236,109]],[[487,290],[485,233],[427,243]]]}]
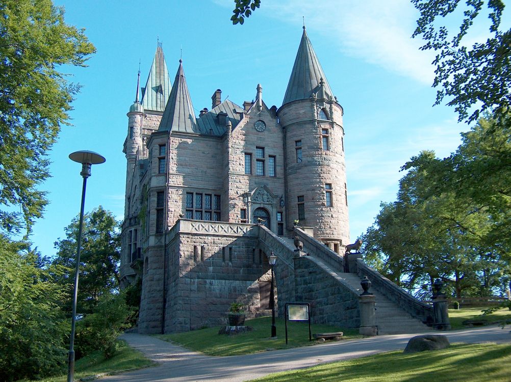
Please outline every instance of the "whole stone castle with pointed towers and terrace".
[{"label": "whole stone castle with pointed towers and terrace", "polygon": [[[142,279],[139,333],[224,324],[234,301],[249,318],[267,314],[272,251],[279,314],[285,302],[311,301],[314,322],[358,327],[360,279],[341,277],[350,240],[343,109],[305,27],[279,108],[258,84],[242,106],[215,90],[196,117],[182,61],[171,83],[161,45],[140,101],[139,88],[123,150],[121,258],[122,286]],[[365,268],[353,259],[350,269]]]}]

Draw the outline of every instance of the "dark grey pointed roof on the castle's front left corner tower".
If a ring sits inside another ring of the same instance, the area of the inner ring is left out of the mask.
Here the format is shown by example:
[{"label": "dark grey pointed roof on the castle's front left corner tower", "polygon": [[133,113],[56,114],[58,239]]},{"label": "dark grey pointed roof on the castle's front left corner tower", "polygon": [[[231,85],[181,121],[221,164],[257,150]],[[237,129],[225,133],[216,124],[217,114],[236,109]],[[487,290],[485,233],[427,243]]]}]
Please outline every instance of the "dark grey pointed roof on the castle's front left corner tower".
[{"label": "dark grey pointed roof on the castle's front left corner tower", "polygon": [[174,86],[172,86],[158,131],[199,133],[182,62],[183,60],[179,60]]}]

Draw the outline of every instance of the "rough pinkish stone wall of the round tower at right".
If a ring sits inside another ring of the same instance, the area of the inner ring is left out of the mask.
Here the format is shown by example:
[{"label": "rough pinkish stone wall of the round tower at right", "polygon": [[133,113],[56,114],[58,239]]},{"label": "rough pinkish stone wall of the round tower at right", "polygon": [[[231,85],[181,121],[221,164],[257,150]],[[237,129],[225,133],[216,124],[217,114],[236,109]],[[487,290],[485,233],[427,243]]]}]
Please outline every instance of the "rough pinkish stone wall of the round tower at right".
[{"label": "rough pinkish stone wall of the round tower at right", "polygon": [[[334,119],[318,119],[322,109]],[[342,109],[330,101],[311,98],[284,105],[278,116],[286,130],[288,221],[298,219],[297,197],[304,196],[305,219],[299,224],[314,227],[317,239],[334,239],[346,245],[350,236]],[[323,129],[328,130],[328,150],[322,146]],[[296,141],[301,141],[301,163],[296,161]],[[332,185],[332,207],[326,206],[326,184]]]}]

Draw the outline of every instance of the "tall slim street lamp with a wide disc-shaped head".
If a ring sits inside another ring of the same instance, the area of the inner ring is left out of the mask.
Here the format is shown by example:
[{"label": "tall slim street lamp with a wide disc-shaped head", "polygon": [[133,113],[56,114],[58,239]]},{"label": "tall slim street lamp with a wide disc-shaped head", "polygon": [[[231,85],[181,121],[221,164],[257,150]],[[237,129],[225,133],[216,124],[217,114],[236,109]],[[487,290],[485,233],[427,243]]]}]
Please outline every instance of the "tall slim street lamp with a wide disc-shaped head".
[{"label": "tall slim street lamp with a wide disc-shaped head", "polygon": [[82,246],[83,208],[85,206],[85,187],[87,178],[90,176],[90,167],[93,164],[105,162],[105,158],[94,151],[75,151],[69,154],[69,159],[82,164],[80,175],[83,176],[82,204],[80,207],[80,225],[78,227],[78,244],[76,249],[75,288],[73,293],[73,315],[71,318],[71,339],[69,340],[69,358],[67,368],[67,382],[73,382],[75,378],[75,324],[76,324],[76,300],[78,299],[78,271],[80,268],[80,249]]}]

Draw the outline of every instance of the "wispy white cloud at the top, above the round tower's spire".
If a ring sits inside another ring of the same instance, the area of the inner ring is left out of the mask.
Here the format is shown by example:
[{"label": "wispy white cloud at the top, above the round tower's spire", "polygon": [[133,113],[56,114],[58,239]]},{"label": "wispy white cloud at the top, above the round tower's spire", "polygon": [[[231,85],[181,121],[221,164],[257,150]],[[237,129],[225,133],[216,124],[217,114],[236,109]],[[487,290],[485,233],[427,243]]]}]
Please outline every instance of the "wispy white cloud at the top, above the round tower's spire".
[{"label": "wispy white cloud at the top, above the round tower's spire", "polygon": [[419,14],[405,0],[264,0],[257,12],[289,23],[305,16],[306,26],[334,40],[342,53],[423,84],[433,82],[434,54],[419,49],[421,39],[411,38]]}]

